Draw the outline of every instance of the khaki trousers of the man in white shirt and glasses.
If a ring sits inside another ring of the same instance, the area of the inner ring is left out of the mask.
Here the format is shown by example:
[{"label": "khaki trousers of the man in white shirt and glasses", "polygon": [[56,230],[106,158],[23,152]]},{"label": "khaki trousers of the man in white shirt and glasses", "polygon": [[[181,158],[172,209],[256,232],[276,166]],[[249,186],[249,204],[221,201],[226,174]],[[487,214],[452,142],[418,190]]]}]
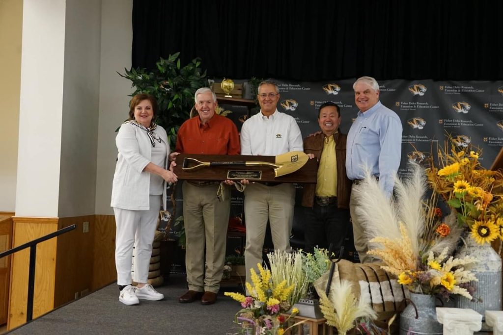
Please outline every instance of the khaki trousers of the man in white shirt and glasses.
[{"label": "khaki trousers of the man in white shirt and glasses", "polygon": [[254,268],[258,272],[257,263],[262,264],[262,250],[268,220],[271,224],[274,250],[290,250],[294,205],[295,186],[293,184],[266,186],[255,183],[249,184],[244,189],[246,224],[244,264],[247,282],[251,283],[250,269]]}]

